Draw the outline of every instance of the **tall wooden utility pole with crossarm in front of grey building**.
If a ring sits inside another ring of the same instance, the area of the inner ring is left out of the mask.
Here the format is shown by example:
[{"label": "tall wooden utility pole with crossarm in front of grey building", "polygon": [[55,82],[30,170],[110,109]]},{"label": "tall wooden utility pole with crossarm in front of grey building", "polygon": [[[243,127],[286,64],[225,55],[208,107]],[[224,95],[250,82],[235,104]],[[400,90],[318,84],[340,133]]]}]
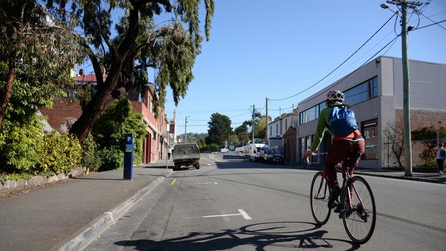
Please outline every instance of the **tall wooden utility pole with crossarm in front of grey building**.
[{"label": "tall wooden utility pole with crossarm in front of grey building", "polygon": [[[405,176],[412,174],[412,139],[410,136],[410,83],[408,60],[408,8],[416,8],[423,3],[419,1],[394,0],[387,3],[401,6],[401,58],[403,61],[403,124],[404,124],[404,152],[405,152]],[[382,5],[382,8],[385,8]],[[412,28],[412,27],[411,27]],[[410,29],[409,29],[410,30]]]}]

